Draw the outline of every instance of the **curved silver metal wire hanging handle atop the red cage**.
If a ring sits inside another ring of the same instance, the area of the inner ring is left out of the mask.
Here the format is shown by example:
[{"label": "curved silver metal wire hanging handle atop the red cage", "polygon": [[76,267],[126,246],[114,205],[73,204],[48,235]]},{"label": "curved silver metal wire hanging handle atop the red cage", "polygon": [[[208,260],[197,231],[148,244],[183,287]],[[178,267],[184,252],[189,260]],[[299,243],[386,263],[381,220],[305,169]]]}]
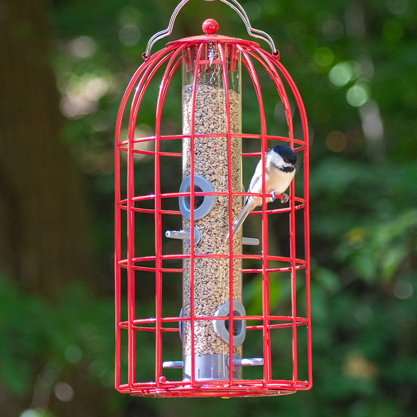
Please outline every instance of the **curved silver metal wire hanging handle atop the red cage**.
[{"label": "curved silver metal wire hanging handle atop the red cage", "polygon": [[[147,59],[151,53],[151,49],[154,46],[154,44],[162,39],[165,38],[167,36],[169,36],[172,33],[172,29],[174,27],[174,22],[175,19],[178,16],[178,13],[180,12],[180,10],[182,9],[182,7],[188,3],[189,0],[182,0],[177,7],[174,9],[172,15],[171,15],[171,19],[169,20],[169,24],[168,27],[164,30],[161,30],[159,32],[156,32],[155,35],[153,35],[149,41],[148,41],[148,45],[146,46],[146,50],[145,52],[142,53],[142,58],[143,59]],[[205,0],[205,1],[214,1],[214,0]],[[273,55],[278,56],[279,52],[278,50],[275,48],[275,43],[272,40],[271,36],[269,36],[266,32],[264,32],[263,30],[259,30],[259,29],[254,29],[251,26],[251,23],[249,22],[249,18],[248,15],[246,14],[245,10],[243,9],[243,7],[236,1],[236,0],[220,0],[222,3],[227,4],[229,7],[231,7],[233,10],[235,10],[235,12],[240,16],[240,18],[242,19],[243,23],[245,24],[246,30],[248,31],[249,36],[252,36],[253,38],[257,38],[257,39],[261,39],[263,41],[265,41],[268,45],[269,48],[271,49],[271,52]]]}]

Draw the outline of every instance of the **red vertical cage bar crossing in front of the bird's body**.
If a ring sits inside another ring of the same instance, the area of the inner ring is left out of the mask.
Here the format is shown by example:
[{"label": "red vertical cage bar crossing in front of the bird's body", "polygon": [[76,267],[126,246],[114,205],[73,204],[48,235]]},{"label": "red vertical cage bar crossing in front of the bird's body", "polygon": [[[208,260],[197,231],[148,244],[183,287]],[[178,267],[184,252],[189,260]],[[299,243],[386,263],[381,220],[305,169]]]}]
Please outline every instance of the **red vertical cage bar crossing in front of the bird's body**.
[{"label": "red vertical cage bar crossing in front of the bird's body", "polygon": [[242,49],[244,56],[244,64],[252,79],[255,92],[259,103],[259,112],[261,119],[261,164],[262,164],[262,338],[263,338],[263,384],[267,385],[267,381],[272,379],[271,364],[271,335],[269,330],[269,273],[268,269],[268,223],[265,202],[265,153],[267,150],[266,140],[266,120],[262,102],[261,87],[258,76],[256,75],[253,62],[248,54]]}]

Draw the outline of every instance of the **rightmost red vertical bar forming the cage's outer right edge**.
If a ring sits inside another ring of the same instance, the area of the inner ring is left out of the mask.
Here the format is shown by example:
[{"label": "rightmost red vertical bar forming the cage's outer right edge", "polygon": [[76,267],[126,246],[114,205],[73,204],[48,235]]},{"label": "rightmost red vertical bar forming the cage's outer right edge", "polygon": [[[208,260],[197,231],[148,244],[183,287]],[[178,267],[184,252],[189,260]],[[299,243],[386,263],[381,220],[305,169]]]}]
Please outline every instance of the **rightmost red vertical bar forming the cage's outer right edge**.
[{"label": "rightmost red vertical bar forming the cage's outer right edge", "polygon": [[307,361],[308,361],[308,385],[304,388],[306,390],[312,387],[312,334],[311,334],[311,300],[310,300],[310,218],[309,218],[309,131],[306,111],[304,108],[304,103],[301,99],[300,93],[297,86],[295,85],[293,79],[288,74],[287,70],[280,63],[276,63],[277,67],[280,69],[284,78],[286,79],[292,94],[296,100],[303,131],[304,139],[304,251],[305,251],[305,261],[306,261],[306,310],[307,310]]}]

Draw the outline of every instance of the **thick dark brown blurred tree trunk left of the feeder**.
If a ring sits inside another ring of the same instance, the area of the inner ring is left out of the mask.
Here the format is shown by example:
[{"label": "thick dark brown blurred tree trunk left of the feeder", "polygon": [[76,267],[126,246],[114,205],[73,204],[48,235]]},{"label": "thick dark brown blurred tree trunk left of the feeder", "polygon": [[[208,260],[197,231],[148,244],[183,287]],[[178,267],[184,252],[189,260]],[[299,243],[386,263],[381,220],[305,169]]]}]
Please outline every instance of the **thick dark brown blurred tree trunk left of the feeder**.
[{"label": "thick dark brown blurred tree trunk left of the feeder", "polygon": [[54,298],[93,281],[83,187],[60,142],[44,2],[0,5],[0,273]]}]

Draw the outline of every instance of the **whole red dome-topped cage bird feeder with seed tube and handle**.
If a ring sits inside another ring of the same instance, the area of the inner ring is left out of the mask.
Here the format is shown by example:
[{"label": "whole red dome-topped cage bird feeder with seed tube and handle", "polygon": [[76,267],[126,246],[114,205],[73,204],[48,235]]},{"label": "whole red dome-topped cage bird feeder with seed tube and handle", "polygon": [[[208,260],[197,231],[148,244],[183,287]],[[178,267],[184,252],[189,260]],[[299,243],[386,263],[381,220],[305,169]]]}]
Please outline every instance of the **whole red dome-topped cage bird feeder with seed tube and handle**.
[{"label": "whole red dome-topped cage bird feeder with seed tube and handle", "polygon": [[[207,19],[204,34],[169,42],[151,54],[188,1],[181,1],[167,29],[150,39],[117,116],[115,386],[130,395],[160,397],[308,390],[304,105],[271,37],[250,25],[237,1],[220,0],[270,52],[254,41],[216,34],[217,23]],[[264,107],[261,79],[275,108]],[[167,101],[174,103],[170,108],[177,110],[181,132],[171,121],[175,115],[166,115]],[[283,115],[280,135],[274,134],[274,112]],[[143,129],[149,114],[155,123],[151,132],[149,121],[148,132]],[[242,183],[248,185],[254,163],[261,160],[264,166],[267,149],[278,144],[294,150],[299,161],[288,201],[267,204],[263,168],[258,194],[263,203],[244,224],[244,235],[241,229],[228,239],[249,195]],[[276,227],[284,236],[280,243]],[[144,241],[149,235],[153,239]]]}]

